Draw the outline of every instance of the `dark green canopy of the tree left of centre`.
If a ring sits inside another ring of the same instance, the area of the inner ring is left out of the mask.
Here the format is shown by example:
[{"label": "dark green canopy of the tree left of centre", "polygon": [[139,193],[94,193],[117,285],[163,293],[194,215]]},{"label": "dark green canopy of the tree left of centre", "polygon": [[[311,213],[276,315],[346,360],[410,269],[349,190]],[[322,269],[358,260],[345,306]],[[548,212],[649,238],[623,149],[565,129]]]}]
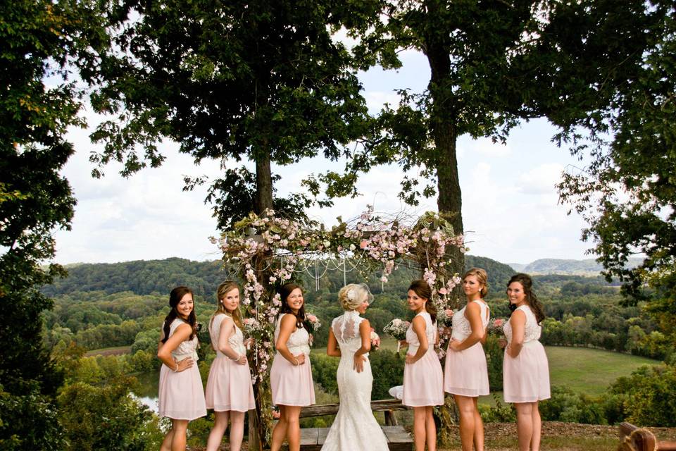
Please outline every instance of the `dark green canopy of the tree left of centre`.
[{"label": "dark green canopy of the tree left of centre", "polygon": [[[215,204],[220,228],[246,216],[259,191],[272,190],[255,180],[270,171],[269,163],[254,177],[233,162],[336,160],[369,132],[351,58],[332,39],[340,9],[333,1],[106,6],[110,37],[81,67],[95,88],[95,111],[113,116],[92,134],[104,143],[92,161],[120,161],[123,175],[156,167],[165,159],[158,149],[165,138],[196,163],[218,161],[224,175],[211,182],[207,201]],[[207,180],[185,182],[192,189]],[[271,206],[298,213],[312,202],[296,195]]]}]

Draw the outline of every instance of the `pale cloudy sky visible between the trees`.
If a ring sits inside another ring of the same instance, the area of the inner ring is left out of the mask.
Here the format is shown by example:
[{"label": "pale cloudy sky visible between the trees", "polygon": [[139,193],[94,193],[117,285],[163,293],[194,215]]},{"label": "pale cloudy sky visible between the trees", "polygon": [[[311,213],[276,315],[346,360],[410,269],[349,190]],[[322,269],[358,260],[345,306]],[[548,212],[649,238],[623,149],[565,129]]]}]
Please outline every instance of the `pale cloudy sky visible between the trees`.
[{"label": "pale cloudy sky visible between the trees", "polygon": [[[422,92],[430,69],[422,54],[401,54],[403,67],[380,68],[360,73],[364,95],[372,113],[387,101],[396,104],[394,89],[411,88]],[[184,175],[209,175],[220,171],[217,161],[195,166],[190,156],[179,154],[175,142],[163,142],[160,149],[166,161],[160,168],[145,168],[129,178],[119,175],[120,166],[104,168],[104,178],[91,176],[90,152],[96,146],[89,133],[101,118],[84,110],[89,129],[70,130],[68,139],[76,153],[61,174],[73,187],[77,206],[72,230],[58,230],[56,261],[73,263],[115,263],[132,260],[181,257],[204,261],[220,259],[209,237],[218,235],[211,205],[204,204],[206,187],[183,192]],[[590,243],[580,241],[585,227],[568,206],[558,202],[556,183],[561,173],[580,162],[566,149],[551,143],[556,132],[546,120],[522,123],[511,131],[505,145],[489,139],[458,140],[458,171],[463,193],[463,223],[469,254],[489,257],[503,263],[527,264],[544,258],[587,259]],[[300,190],[306,175],[324,171],[334,163],[315,158],[293,166],[276,167],[282,176],[280,194]],[[233,166],[235,163],[233,163]],[[412,174],[409,174],[412,175]],[[415,175],[415,174],[413,174]],[[380,166],[363,175],[357,199],[337,199],[332,208],[311,209],[312,218],[332,226],[336,217],[353,218],[373,205],[375,211],[418,216],[436,210],[436,199],[423,199],[412,208],[399,201],[399,181],[403,173],[397,166]]]}]

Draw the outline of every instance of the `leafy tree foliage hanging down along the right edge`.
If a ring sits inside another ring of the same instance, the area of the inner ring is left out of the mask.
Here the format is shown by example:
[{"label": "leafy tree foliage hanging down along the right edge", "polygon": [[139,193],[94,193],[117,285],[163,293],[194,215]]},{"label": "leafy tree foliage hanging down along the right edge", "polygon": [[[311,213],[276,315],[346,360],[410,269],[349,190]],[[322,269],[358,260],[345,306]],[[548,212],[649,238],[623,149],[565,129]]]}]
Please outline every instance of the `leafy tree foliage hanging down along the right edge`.
[{"label": "leafy tree foliage hanging down along the right edge", "polygon": [[[587,117],[563,111],[560,142],[586,156],[559,185],[589,223],[584,240],[619,278],[630,302],[648,299],[676,337],[676,9],[656,1],[646,14],[646,49],[632,56],[612,97],[593,99]],[[628,268],[635,255],[642,264]],[[646,285],[649,290],[646,290]]]}]

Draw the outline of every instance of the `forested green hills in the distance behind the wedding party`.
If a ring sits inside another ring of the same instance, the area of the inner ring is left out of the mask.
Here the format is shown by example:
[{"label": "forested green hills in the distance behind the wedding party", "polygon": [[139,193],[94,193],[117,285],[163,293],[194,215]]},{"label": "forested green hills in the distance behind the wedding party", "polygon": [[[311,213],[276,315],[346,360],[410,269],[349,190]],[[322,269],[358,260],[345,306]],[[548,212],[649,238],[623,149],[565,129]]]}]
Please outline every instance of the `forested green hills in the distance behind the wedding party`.
[{"label": "forested green hills in the distance behind the wedding party", "polygon": [[[325,271],[326,263],[318,262],[306,272],[296,273],[305,288],[308,311],[323,323],[341,313],[337,292],[344,283],[352,282],[366,281],[375,295],[366,316],[379,333],[395,317],[411,315],[405,299],[411,280],[419,277],[414,268],[401,264],[383,284],[380,274],[364,280],[357,271]],[[332,266],[336,267],[335,263]],[[513,269],[485,257],[467,256],[466,265],[487,270],[492,316],[507,317],[504,292]],[[151,352],[171,288],[193,288],[199,321],[208,321],[215,306],[215,289],[225,278],[227,271],[218,260],[172,258],[75,266],[70,268],[68,278],[43,288],[55,299],[54,309],[43,314],[47,345],[75,342],[87,350],[134,345],[134,350]],[[534,276],[534,284],[548,316],[543,324],[544,343],[601,347],[653,358],[668,354],[668,342],[654,321],[640,307],[622,307],[618,287],[603,278],[551,274]],[[449,302],[449,307],[458,308],[464,300]],[[321,328],[315,342],[323,345],[327,333],[327,328]]]}]

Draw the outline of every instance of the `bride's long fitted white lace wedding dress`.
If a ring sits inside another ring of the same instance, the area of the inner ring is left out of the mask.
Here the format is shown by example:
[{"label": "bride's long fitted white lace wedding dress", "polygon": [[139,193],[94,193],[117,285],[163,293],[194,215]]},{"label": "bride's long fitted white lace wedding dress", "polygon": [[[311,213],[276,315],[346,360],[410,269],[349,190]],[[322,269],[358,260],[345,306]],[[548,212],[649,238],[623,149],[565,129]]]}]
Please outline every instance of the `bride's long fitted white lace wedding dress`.
[{"label": "bride's long fitted white lace wedding dress", "polygon": [[359,324],[364,319],[356,311],[346,311],[334,319],[331,328],[340,347],[337,381],[340,407],[322,451],[387,451],[387,439],[371,412],[373,374],[368,362],[357,373],[354,353],[361,347]]}]

